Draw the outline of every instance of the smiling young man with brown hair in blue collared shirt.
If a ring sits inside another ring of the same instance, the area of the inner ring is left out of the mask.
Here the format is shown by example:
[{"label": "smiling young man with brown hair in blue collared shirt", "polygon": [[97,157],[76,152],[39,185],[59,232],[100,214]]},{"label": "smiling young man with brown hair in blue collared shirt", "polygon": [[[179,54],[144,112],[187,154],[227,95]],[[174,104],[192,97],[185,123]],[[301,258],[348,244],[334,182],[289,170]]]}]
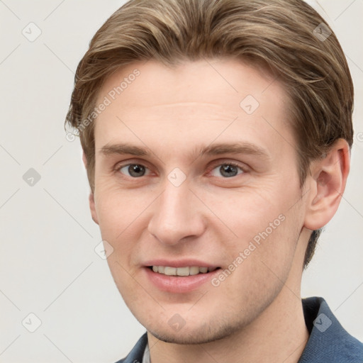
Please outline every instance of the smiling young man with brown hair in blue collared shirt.
[{"label": "smiling young man with brown hair in blue collared shirt", "polygon": [[362,362],[301,275],[345,189],[353,86],[296,0],[133,0],[79,63],[108,265],[147,329],[120,362]]}]

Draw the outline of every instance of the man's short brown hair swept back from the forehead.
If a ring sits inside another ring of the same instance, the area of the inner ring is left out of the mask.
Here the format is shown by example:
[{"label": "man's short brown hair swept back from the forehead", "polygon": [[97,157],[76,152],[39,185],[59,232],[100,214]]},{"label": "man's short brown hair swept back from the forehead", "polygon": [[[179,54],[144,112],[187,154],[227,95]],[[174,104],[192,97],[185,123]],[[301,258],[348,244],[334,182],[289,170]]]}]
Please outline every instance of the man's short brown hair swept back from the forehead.
[{"label": "man's short brown hair swept back from the forehead", "polygon": [[[302,0],[131,0],[97,31],[77,67],[66,123],[80,132],[94,191],[94,112],[117,69],[155,59],[241,57],[264,64],[289,95],[301,186],[312,160],[338,138],[352,146],[353,84],[344,52],[323,18]],[[86,125],[86,127],[85,127]],[[308,242],[304,267],[320,230]]]}]

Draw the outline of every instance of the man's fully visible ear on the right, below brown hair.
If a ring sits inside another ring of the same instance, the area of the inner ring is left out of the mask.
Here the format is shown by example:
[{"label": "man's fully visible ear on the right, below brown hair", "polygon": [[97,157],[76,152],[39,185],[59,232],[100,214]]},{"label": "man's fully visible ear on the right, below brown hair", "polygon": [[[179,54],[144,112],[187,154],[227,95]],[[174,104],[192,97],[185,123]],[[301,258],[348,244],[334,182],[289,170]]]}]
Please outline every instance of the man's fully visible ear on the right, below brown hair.
[{"label": "man's fully visible ear on the right, below brown hair", "polygon": [[318,230],[335,215],[350,171],[350,147],[338,139],[323,159],[311,163],[305,227]]}]

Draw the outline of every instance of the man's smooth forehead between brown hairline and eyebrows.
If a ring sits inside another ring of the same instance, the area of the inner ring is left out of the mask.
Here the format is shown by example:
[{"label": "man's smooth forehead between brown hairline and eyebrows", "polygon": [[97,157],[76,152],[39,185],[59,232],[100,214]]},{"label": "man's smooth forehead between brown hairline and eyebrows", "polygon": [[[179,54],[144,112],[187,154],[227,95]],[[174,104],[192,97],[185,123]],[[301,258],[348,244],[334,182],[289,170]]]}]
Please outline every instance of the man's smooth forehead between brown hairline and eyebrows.
[{"label": "man's smooth forehead between brown hairline and eyebrows", "polygon": [[217,139],[264,143],[277,151],[286,139],[294,143],[283,86],[266,70],[240,60],[175,67],[133,62],[106,79],[96,105],[106,99],[108,106],[96,118],[96,152],[130,140],[144,147],[158,140],[157,147],[185,152]]}]

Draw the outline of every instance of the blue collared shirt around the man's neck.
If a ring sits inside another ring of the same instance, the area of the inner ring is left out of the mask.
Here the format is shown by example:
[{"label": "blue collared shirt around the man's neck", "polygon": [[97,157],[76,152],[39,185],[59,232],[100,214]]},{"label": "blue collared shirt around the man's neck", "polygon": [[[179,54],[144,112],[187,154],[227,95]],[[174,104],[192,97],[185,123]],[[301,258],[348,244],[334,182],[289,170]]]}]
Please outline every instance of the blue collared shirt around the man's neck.
[{"label": "blue collared shirt around the man's neck", "polygon": [[[303,298],[310,337],[298,363],[363,363],[363,344],[340,325],[323,298]],[[147,363],[147,333],[125,359],[116,363]]]}]

